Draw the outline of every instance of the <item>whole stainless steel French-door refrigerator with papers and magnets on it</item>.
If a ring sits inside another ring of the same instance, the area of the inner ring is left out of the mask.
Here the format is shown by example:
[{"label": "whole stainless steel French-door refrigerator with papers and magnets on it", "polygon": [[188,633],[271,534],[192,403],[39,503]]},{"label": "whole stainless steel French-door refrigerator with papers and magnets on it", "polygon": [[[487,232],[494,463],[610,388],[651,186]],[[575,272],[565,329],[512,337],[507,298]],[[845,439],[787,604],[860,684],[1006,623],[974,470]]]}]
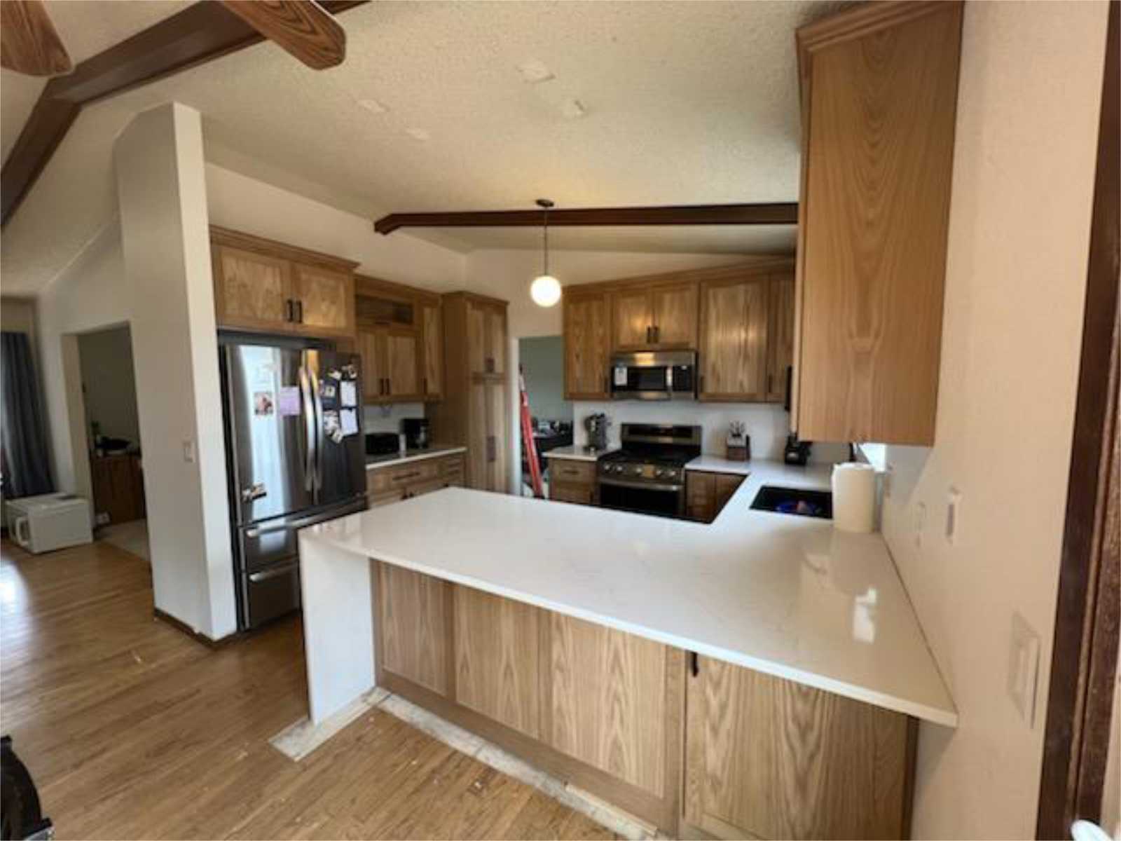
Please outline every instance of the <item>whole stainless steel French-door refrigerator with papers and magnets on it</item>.
[{"label": "whole stainless steel French-door refrigerator with papers and magnets on it", "polygon": [[220,338],[238,626],[299,607],[296,533],[365,508],[356,355]]}]

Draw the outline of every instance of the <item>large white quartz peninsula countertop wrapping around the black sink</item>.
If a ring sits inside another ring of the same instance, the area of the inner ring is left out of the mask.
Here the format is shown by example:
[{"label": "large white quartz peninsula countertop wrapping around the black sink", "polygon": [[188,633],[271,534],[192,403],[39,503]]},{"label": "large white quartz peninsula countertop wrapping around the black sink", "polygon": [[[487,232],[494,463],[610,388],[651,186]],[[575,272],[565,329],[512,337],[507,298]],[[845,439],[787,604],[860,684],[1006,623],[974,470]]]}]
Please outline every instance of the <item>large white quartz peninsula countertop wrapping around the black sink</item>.
[{"label": "large white quartz peninsula countertop wrapping around the black sink", "polygon": [[312,540],[956,727],[879,534],[751,509],[830,466],[753,461],[711,525],[447,488],[304,530]]}]

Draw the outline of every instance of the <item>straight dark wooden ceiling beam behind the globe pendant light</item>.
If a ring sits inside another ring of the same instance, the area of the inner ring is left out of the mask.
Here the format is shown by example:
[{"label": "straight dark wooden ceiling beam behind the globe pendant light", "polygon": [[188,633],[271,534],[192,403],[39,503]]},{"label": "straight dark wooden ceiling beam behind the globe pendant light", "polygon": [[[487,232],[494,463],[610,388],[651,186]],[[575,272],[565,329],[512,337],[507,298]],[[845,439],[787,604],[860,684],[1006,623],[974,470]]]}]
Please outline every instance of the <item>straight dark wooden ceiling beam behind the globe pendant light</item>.
[{"label": "straight dark wooden ceiling beam behind the globe pendant light", "polygon": [[[398,228],[535,228],[543,211],[390,213],[373,223],[378,233]],[[771,204],[685,204],[660,207],[550,210],[549,227],[611,225],[782,225],[798,223],[797,202]]]}]

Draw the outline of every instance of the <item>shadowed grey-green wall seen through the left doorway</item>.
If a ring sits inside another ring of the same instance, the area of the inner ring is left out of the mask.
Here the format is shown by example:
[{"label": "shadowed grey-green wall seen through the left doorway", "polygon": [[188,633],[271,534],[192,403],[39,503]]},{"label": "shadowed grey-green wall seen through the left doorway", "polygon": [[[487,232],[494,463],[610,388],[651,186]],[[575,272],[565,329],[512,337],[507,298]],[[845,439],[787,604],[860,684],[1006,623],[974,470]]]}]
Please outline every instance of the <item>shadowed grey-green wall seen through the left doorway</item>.
[{"label": "shadowed grey-green wall seen through the left doorway", "polygon": [[140,417],[128,325],[80,335],[77,346],[86,426],[96,423],[102,435],[139,444]]}]

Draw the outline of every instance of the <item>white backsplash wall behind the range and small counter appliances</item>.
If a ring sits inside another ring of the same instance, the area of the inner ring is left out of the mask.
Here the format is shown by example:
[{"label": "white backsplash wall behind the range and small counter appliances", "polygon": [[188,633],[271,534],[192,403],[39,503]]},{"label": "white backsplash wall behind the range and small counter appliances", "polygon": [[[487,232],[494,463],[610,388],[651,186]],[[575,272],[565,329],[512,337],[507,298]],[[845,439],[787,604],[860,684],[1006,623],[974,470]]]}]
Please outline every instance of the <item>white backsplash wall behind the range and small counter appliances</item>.
[{"label": "white backsplash wall behind the range and small counter appliances", "polygon": [[[752,459],[781,459],[782,446],[789,432],[790,415],[771,404],[732,404],[682,401],[608,400],[573,404],[573,440],[576,445],[587,443],[584,418],[596,412],[611,418],[608,438],[619,444],[620,424],[700,424],[701,449],[705,453],[723,455],[728,427],[741,420],[751,436]],[[815,442],[810,461],[834,463],[849,459],[846,443]]]}]

